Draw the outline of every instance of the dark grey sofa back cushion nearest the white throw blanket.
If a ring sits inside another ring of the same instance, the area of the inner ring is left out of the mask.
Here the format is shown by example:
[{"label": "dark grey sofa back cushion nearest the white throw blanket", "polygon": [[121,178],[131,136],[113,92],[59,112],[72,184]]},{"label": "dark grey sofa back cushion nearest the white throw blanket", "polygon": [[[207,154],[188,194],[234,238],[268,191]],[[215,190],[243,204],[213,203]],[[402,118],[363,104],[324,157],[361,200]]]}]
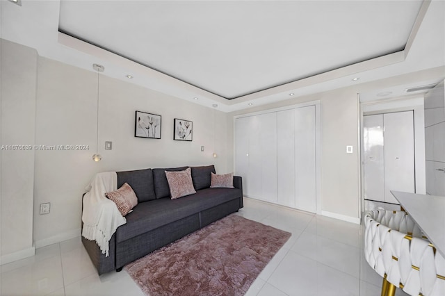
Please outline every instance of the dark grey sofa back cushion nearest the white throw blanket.
[{"label": "dark grey sofa back cushion nearest the white throw blanket", "polygon": [[156,199],[153,186],[152,169],[116,172],[118,174],[118,188],[128,183],[133,188],[138,202],[147,202]]}]

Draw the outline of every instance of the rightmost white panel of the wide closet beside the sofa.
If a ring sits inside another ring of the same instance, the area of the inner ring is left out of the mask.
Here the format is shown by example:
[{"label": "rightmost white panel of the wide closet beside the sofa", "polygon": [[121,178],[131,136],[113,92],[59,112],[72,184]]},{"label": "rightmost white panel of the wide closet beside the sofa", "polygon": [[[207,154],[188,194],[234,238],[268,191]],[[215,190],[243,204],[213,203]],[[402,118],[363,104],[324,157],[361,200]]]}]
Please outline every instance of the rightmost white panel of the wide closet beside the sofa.
[{"label": "rightmost white panel of the wide closet beside the sofa", "polygon": [[316,129],[315,106],[296,108],[295,172],[296,208],[316,212]]}]

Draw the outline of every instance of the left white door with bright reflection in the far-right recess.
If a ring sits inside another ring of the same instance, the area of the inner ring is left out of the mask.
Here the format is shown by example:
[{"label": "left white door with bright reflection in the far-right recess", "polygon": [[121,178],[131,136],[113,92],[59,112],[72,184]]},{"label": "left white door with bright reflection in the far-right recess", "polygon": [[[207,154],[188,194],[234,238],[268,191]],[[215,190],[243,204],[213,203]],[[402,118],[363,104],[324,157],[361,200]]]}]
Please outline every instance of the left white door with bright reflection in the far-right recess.
[{"label": "left white door with bright reflection in the far-right recess", "polygon": [[383,114],[363,117],[364,198],[385,202]]}]

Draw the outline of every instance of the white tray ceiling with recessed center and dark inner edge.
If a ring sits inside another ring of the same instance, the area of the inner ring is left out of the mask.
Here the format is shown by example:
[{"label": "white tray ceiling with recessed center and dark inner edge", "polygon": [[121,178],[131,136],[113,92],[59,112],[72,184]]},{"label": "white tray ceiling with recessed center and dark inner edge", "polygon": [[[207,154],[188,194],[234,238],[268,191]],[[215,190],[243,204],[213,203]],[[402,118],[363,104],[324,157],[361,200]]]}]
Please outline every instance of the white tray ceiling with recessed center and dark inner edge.
[{"label": "white tray ceiling with recessed center and dark inner edge", "polygon": [[41,56],[101,63],[107,76],[225,112],[445,65],[444,1],[22,0],[1,10],[1,37]]}]

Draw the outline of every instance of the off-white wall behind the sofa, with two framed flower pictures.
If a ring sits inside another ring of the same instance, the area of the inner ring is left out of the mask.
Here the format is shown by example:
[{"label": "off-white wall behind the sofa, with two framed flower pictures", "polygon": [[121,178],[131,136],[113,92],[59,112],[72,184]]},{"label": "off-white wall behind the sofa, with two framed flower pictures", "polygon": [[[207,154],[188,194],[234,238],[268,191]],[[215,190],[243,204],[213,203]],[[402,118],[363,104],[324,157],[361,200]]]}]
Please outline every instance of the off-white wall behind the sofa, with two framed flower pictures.
[{"label": "off-white wall behind the sofa, with two framed flower pictures", "polygon": [[[106,65],[105,72],[106,72]],[[35,246],[80,235],[81,195],[96,172],[147,167],[215,164],[229,172],[232,147],[227,149],[227,115],[131,83],[99,77],[99,154],[96,149],[97,72],[40,57],[35,142],[37,145],[89,145],[88,151],[35,151]],[[162,116],[161,140],[135,138],[135,111]],[[213,115],[216,152],[213,158]],[[193,121],[193,141],[173,140],[173,119]],[[104,150],[105,141],[113,150]],[[201,152],[204,145],[205,151]],[[51,202],[51,213],[38,207]]]}]

